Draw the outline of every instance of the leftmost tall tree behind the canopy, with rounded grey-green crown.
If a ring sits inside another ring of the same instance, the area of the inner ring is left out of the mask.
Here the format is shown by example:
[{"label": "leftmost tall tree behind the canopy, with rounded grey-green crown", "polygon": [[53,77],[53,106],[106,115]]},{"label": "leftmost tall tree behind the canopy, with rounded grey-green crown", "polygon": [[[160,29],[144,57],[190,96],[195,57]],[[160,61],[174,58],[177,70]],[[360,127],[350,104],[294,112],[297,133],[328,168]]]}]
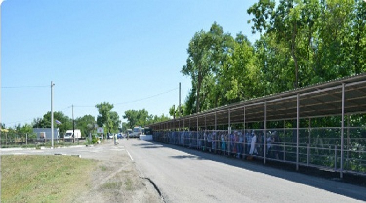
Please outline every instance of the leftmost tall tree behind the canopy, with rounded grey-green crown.
[{"label": "leftmost tall tree behind the canopy, with rounded grey-green crown", "polygon": [[[188,59],[182,68],[183,75],[192,79],[192,90],[196,91],[193,96],[191,91],[186,103],[188,112],[195,105],[196,111],[214,107],[217,101],[218,92],[215,90],[215,83],[219,76],[219,70],[232,55],[234,40],[228,33],[224,33],[223,28],[214,22],[209,31],[201,30],[196,32],[187,49]],[[191,99],[195,97],[196,102]],[[190,105],[190,106],[188,106]]]}]

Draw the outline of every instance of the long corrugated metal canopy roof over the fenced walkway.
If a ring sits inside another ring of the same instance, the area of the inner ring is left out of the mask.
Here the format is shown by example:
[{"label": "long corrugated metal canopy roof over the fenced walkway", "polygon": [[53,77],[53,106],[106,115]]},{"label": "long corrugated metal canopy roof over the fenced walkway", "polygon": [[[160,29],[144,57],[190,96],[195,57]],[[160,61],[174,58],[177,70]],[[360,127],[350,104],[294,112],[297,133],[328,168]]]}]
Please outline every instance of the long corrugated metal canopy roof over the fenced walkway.
[{"label": "long corrugated metal canopy roof over the fenced walkway", "polygon": [[229,122],[286,120],[297,117],[299,95],[300,118],[325,117],[342,114],[342,86],[345,87],[345,114],[366,113],[366,73],[294,89],[266,97],[242,101],[206,110],[193,115],[151,124],[153,129],[227,125]]}]

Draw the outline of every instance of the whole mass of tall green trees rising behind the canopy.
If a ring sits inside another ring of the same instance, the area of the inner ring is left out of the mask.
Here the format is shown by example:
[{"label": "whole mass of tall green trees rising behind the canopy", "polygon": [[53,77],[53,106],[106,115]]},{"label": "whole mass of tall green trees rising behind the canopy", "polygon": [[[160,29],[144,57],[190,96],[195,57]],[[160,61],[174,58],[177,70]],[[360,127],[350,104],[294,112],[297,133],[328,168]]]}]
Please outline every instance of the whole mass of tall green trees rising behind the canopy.
[{"label": "whole mass of tall green trees rising behind the canopy", "polygon": [[192,83],[183,115],[366,71],[366,3],[276,2],[247,10],[251,32],[260,33],[253,44],[216,22],[194,34],[182,69]]}]

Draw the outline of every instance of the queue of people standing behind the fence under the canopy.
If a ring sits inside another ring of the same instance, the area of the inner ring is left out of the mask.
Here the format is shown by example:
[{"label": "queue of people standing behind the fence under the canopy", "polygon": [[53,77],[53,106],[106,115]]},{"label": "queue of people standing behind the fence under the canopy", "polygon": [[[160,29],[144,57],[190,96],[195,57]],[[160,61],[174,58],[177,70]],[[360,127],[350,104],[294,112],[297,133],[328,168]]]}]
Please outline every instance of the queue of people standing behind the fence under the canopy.
[{"label": "queue of people standing behind the fence under the canopy", "polygon": [[276,131],[267,132],[265,138],[262,130],[245,132],[240,130],[231,133],[228,131],[154,132],[154,139],[235,158],[243,158],[246,155],[249,160],[253,157],[264,156],[265,139],[266,157],[279,159],[281,140]]}]

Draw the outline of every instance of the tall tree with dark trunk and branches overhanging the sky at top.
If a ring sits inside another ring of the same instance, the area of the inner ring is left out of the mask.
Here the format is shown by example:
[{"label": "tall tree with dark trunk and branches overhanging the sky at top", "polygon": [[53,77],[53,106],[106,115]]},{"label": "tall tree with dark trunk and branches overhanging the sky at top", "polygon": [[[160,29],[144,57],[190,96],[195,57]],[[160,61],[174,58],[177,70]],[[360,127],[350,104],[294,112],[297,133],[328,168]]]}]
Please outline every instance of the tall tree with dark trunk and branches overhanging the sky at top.
[{"label": "tall tree with dark trunk and branches overhanging the sky at top", "polygon": [[[270,68],[285,68],[285,72],[293,73],[288,78],[291,84],[286,86],[297,88],[308,85],[313,52],[309,47],[316,31],[314,26],[319,20],[318,0],[280,0],[277,7],[274,0],[262,0],[250,7],[248,13],[254,15],[253,32],[264,31],[262,37],[266,38],[267,44],[271,44],[267,50],[282,52],[278,59],[291,59],[283,67],[272,65]],[[273,42],[268,43],[268,40]]]}]

